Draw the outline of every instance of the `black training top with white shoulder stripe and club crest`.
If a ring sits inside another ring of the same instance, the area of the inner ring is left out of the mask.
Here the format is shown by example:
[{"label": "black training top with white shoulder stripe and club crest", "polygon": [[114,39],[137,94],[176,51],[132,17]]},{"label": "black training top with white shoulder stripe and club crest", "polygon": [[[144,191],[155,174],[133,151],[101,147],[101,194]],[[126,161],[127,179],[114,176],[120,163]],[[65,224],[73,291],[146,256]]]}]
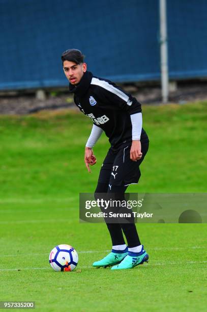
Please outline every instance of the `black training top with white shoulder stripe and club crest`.
[{"label": "black training top with white shoulder stripe and club crest", "polygon": [[[130,115],[141,112],[141,104],[109,80],[93,76],[86,71],[78,85],[69,86],[80,111],[102,128],[112,147],[132,141]],[[149,141],[144,129],[141,142]]]}]

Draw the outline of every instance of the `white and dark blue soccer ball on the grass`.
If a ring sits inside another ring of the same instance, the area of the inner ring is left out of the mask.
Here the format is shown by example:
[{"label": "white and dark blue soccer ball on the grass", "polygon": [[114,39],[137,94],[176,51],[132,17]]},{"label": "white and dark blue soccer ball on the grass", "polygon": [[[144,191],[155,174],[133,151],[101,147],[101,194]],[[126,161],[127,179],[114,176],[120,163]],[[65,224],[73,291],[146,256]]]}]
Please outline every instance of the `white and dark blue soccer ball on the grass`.
[{"label": "white and dark blue soccer ball on the grass", "polygon": [[55,271],[73,271],[78,264],[77,251],[70,245],[58,245],[51,250],[49,263]]}]

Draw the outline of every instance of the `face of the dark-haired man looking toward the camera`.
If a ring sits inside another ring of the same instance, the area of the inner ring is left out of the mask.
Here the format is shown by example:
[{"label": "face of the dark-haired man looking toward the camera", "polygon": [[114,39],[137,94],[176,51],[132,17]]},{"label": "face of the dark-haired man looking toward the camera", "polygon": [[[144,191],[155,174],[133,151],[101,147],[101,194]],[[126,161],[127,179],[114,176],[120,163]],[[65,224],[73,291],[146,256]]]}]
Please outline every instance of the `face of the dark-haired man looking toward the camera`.
[{"label": "face of the dark-haired man looking toward the camera", "polygon": [[77,85],[84,72],[86,72],[86,64],[76,64],[70,61],[64,61],[63,69],[66,75],[66,78],[72,85]]}]

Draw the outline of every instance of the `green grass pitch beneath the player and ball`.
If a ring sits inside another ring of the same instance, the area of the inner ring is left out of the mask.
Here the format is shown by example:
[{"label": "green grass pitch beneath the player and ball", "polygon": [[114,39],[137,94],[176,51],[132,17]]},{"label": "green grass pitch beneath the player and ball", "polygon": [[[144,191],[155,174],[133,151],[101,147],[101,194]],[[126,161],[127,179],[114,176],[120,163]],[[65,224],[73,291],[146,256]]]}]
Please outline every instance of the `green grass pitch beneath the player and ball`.
[{"label": "green grass pitch beneath the player and ball", "polygon": [[[143,106],[150,149],[128,192],[206,192],[206,102]],[[40,311],[204,311],[206,224],[137,224],[148,264],[95,269],[111,244],[105,224],[79,223],[79,192],[93,192],[104,135],[88,174],[91,121],[76,111],[0,117],[0,301]],[[54,272],[50,250],[70,244],[74,272]],[[81,272],[80,272],[81,270]]]}]

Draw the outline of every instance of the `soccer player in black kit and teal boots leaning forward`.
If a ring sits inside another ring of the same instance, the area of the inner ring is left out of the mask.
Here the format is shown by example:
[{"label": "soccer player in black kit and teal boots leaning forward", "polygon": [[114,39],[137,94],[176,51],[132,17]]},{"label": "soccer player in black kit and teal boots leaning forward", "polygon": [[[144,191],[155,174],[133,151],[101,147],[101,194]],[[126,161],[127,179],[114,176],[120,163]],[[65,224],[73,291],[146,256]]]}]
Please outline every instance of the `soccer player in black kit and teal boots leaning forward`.
[{"label": "soccer player in black kit and teal boots leaning forward", "polygon": [[[87,71],[80,50],[69,49],[61,59],[76,106],[93,122],[85,145],[84,162],[88,172],[90,165],[96,164],[93,147],[103,132],[111,145],[100,170],[95,194],[113,193],[117,198],[123,198],[127,187],[138,183],[141,175],[139,166],[149,148],[149,139],[142,128],[141,105],[114,83]],[[140,243],[134,222],[107,222],[106,225],[112,250],[94,262],[94,267],[131,269],[148,261],[149,255]]]}]

